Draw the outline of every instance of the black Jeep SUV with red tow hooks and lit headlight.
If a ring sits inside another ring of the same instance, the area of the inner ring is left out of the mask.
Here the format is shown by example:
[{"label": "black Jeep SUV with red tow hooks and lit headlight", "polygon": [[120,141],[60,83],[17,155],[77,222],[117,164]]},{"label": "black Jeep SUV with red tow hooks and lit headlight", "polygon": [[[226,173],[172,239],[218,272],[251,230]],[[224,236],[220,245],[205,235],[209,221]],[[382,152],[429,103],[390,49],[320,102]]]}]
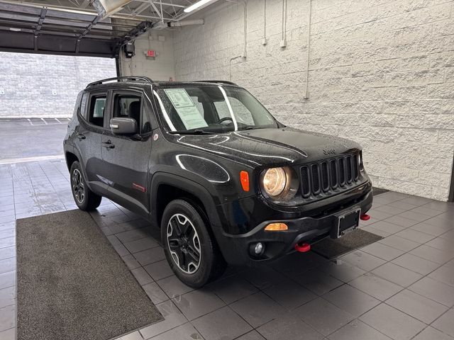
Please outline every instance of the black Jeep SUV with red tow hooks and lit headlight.
[{"label": "black Jeep SUV with red tow hooks and lit headlight", "polygon": [[106,196],[150,220],[192,287],[341,237],[372,205],[360,145],[287,128],[227,81],[89,84],[64,149],[79,208]]}]

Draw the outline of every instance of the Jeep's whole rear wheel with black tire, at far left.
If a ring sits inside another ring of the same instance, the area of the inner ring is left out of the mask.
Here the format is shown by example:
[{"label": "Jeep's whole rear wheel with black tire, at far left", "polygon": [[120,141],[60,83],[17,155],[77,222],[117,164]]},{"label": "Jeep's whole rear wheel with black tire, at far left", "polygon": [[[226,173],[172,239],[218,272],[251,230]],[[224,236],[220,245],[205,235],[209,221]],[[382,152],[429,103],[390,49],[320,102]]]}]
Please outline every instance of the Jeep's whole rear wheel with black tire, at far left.
[{"label": "Jeep's whole rear wheel with black tire, at far left", "polygon": [[102,197],[89,189],[85,183],[82,167],[77,161],[71,164],[70,183],[72,198],[80,210],[90,211],[99,207]]}]

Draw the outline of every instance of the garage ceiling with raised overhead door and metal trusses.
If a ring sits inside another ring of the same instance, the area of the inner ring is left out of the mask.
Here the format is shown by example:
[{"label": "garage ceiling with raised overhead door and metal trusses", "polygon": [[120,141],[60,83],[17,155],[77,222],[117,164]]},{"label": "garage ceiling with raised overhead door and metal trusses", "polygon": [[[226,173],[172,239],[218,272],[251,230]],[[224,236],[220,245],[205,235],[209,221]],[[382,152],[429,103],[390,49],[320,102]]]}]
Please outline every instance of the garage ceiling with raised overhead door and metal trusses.
[{"label": "garage ceiling with raised overhead door and metal trusses", "polygon": [[93,0],[0,0],[0,50],[115,57],[125,42],[177,22],[196,0],[133,0],[109,18]]}]

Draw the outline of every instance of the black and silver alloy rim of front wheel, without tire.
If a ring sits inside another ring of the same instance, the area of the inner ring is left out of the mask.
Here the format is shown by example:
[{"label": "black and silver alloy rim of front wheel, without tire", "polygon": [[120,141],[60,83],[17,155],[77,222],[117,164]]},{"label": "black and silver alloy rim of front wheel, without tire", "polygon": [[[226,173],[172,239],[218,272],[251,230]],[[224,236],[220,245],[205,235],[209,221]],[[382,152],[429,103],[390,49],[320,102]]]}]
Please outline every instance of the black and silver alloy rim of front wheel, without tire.
[{"label": "black and silver alloy rim of front wheel, without tire", "polygon": [[167,223],[167,245],[173,261],[181,271],[193,274],[199,269],[199,234],[187,216],[175,214],[170,217]]}]

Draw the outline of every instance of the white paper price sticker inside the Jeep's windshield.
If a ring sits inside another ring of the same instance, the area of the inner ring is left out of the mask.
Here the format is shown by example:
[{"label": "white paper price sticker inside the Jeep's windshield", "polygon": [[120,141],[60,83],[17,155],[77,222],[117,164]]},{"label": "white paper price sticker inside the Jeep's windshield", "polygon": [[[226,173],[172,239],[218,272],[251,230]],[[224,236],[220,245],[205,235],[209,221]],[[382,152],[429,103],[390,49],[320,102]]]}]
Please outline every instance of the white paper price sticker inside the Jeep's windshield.
[{"label": "white paper price sticker inside the Jeep's windshield", "polygon": [[206,128],[208,124],[185,89],[165,89],[165,94],[172,101],[175,110],[187,130]]}]

